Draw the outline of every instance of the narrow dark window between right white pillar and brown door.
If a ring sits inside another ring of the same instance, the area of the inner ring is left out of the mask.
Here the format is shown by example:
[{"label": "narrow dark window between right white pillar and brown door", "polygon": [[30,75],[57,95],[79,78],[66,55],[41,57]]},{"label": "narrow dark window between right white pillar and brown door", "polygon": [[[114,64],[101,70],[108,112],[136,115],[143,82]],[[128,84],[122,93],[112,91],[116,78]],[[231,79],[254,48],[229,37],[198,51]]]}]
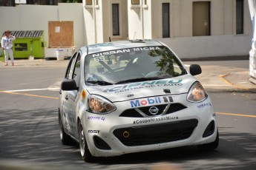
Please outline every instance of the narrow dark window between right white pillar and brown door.
[{"label": "narrow dark window between right white pillar and brown door", "polygon": [[163,27],[163,38],[170,37],[170,4],[162,4],[162,27]]}]

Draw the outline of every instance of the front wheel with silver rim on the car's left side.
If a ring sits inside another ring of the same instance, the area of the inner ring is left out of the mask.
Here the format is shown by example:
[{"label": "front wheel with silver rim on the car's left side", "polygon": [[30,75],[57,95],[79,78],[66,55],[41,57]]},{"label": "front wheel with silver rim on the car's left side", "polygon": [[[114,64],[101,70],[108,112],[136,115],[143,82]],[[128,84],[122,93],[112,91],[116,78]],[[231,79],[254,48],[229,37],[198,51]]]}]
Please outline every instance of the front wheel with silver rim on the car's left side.
[{"label": "front wheel with silver rim on the car's left side", "polygon": [[78,132],[79,132],[79,149],[80,149],[80,154],[82,156],[82,160],[84,160],[87,163],[92,163],[96,160],[96,157],[93,157],[93,155],[88,149],[88,144],[85,139],[85,132],[82,128],[81,122],[79,122]]}]

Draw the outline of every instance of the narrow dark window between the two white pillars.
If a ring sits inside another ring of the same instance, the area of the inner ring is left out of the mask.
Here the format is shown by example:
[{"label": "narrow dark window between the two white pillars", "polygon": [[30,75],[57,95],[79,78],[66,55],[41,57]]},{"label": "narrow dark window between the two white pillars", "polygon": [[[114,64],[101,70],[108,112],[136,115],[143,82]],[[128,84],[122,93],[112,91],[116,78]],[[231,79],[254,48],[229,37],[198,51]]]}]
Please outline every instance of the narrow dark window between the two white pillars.
[{"label": "narrow dark window between the two white pillars", "polygon": [[112,29],[113,29],[113,35],[120,35],[120,32],[119,32],[119,4],[112,4]]}]

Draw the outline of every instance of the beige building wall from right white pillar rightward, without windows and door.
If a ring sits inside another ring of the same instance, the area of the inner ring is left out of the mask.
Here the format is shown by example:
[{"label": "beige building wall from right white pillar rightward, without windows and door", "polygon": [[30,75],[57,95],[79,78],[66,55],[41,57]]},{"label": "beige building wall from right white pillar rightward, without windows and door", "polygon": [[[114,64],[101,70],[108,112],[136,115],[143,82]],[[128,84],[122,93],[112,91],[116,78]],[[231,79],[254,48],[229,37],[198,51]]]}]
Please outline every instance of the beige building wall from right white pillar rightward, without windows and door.
[{"label": "beige building wall from right white pillar rightward, without windows and door", "polygon": [[[192,3],[203,0],[148,0],[148,8],[129,7],[129,38],[155,38],[171,47],[180,58],[248,55],[252,24],[244,1],[244,33],[236,35],[235,0],[211,1],[211,35],[193,37]],[[140,1],[141,4],[143,0]],[[171,38],[162,38],[162,3],[170,3]],[[141,20],[142,16],[144,20]],[[141,22],[144,22],[144,37]]]}]

